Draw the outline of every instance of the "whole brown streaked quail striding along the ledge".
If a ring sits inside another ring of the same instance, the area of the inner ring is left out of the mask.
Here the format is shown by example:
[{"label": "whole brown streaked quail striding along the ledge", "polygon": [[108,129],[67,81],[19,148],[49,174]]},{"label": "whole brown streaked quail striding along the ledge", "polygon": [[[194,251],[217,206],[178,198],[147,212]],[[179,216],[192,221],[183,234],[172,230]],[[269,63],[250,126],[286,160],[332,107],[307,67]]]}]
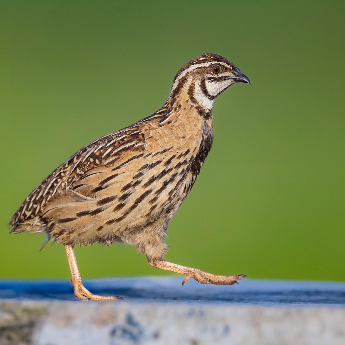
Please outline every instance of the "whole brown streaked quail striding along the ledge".
[{"label": "whole brown streaked quail striding along the ledge", "polygon": [[150,265],[200,283],[234,284],[244,275],[216,276],[168,263],[164,237],[188,195],[213,140],[214,99],[235,82],[247,82],[216,54],[190,60],[175,76],[165,105],[143,120],[80,149],[35,188],[13,215],[14,233],[46,232],[65,245],[75,295],[92,295],[81,283],[75,244],[135,244]]}]

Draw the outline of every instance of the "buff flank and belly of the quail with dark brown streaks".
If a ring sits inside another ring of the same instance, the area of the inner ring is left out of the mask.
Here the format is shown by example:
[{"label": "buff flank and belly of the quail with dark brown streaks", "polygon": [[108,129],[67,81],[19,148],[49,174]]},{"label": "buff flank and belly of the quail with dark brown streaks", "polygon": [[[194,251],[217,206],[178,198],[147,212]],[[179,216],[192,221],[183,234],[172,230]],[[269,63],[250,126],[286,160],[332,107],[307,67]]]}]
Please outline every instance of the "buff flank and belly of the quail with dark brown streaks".
[{"label": "buff flank and belly of the quail with dark brown streaks", "polygon": [[[78,189],[85,189],[89,181],[83,179],[83,187],[68,189],[48,204],[44,214],[48,233],[63,244],[136,244],[143,231],[159,219],[170,219],[180,206],[181,196],[186,194],[191,158],[184,159],[184,164],[171,160],[169,165],[164,164],[168,160],[166,157],[160,158],[160,164],[137,179],[134,179],[137,170],[124,169],[93,197],[78,193]],[[155,161],[146,164],[155,164]],[[109,176],[99,175],[100,181]],[[90,181],[95,176],[91,175]],[[95,185],[95,181],[92,180],[92,184]]]}]

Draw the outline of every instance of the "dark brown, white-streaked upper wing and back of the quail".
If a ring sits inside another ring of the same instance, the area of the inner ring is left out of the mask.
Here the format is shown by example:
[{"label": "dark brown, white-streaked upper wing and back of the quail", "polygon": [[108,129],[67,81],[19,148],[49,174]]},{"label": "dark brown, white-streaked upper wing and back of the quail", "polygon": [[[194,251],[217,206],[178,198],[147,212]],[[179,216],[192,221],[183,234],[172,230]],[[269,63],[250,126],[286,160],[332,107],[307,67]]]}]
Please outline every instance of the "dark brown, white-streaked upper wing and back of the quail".
[{"label": "dark brown, white-streaked upper wing and back of the quail", "polygon": [[25,220],[41,216],[53,196],[69,189],[83,176],[90,175],[92,169],[116,165],[117,161],[121,160],[119,158],[142,151],[144,142],[145,138],[138,122],[81,148],[44,179],[24,200],[10,221],[12,231]]}]

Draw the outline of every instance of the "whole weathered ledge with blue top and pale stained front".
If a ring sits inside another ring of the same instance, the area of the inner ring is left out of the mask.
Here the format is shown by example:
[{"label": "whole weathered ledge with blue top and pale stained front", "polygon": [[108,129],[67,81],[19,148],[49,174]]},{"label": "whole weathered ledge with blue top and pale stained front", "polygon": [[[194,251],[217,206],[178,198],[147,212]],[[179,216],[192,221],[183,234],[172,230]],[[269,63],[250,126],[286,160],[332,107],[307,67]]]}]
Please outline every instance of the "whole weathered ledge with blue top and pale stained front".
[{"label": "whole weathered ledge with blue top and pale stained front", "polygon": [[85,281],[125,302],[78,301],[61,281],[0,281],[0,344],[345,344],[345,284],[181,278]]}]

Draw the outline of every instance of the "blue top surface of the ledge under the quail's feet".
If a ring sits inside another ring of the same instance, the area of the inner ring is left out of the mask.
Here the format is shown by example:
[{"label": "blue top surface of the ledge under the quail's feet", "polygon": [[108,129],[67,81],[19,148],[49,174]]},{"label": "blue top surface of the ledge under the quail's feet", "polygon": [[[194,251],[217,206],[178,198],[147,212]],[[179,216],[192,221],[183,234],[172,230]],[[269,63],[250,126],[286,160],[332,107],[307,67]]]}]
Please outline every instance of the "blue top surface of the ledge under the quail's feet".
[{"label": "blue top surface of the ledge under the quail's feet", "polygon": [[[92,293],[121,296],[126,302],[220,303],[258,305],[344,305],[345,283],[244,279],[238,285],[201,285],[183,278],[130,277],[85,280]],[[0,280],[0,299],[77,300],[61,280]]]}]

